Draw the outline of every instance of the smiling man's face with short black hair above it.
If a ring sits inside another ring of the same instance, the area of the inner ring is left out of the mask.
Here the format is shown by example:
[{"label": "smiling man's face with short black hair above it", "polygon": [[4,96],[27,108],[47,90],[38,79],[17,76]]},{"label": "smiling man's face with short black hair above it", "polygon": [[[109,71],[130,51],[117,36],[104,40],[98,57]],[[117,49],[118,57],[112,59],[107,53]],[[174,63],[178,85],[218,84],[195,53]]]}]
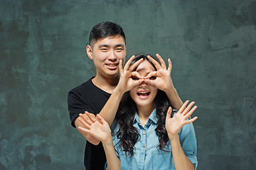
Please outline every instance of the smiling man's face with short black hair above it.
[{"label": "smiling man's face with short black hair above it", "polygon": [[87,45],[87,55],[93,60],[97,75],[114,77],[119,75],[119,61],[124,63],[127,49],[122,35],[100,38],[93,47]]}]

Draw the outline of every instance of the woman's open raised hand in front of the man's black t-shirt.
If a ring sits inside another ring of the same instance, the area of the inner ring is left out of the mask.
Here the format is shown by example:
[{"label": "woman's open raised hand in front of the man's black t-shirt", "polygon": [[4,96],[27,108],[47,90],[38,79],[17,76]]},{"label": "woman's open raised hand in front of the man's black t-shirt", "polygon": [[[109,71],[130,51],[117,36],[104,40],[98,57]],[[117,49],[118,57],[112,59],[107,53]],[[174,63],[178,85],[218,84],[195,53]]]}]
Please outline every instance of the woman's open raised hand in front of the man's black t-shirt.
[{"label": "woman's open raised hand in front of the man's black t-shirt", "polygon": [[78,127],[80,130],[90,133],[90,135],[100,140],[102,143],[108,140],[112,141],[110,126],[99,114],[97,114],[96,118],[92,118],[90,113],[85,113],[82,114],[81,118],[78,120],[86,127]]}]

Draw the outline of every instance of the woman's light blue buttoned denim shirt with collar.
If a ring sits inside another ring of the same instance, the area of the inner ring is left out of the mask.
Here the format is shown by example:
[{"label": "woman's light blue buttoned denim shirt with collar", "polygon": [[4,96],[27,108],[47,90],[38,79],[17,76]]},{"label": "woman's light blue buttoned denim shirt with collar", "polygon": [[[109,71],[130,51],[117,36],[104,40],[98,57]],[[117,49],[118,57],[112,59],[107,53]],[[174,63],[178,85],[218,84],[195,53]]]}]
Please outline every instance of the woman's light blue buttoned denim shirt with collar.
[{"label": "woman's light blue buttoned denim shirt with collar", "polygon": [[[126,156],[125,152],[122,151],[119,139],[117,136],[113,136],[114,149],[117,153],[117,157],[121,162],[120,169],[134,169],[134,170],[164,170],[164,169],[175,169],[174,159],[172,157],[171,149],[169,152],[164,152],[159,149],[159,138],[156,135],[156,109],[149,116],[149,120],[143,127],[139,121],[139,116],[135,115],[134,127],[139,130],[140,139],[135,144],[134,155],[132,157]],[[117,125],[118,128],[118,125]],[[118,129],[114,132],[117,132]],[[196,135],[193,128],[193,124],[189,123],[181,128],[178,133],[181,147],[188,157],[188,159],[194,164],[195,169],[197,167],[196,158]],[[119,142],[119,143],[118,143]],[[171,148],[170,141],[167,142],[169,148]],[[105,166],[107,169],[107,164]]]}]

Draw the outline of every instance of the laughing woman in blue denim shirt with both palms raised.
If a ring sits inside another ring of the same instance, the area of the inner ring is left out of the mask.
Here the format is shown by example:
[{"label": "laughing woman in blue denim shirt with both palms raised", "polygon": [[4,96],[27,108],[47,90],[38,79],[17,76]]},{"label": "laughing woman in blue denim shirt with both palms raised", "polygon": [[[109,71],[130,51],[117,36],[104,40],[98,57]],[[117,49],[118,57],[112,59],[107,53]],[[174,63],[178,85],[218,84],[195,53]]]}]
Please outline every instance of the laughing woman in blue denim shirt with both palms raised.
[{"label": "laughing woman in blue denim shirt with both palms raised", "polygon": [[[196,136],[188,118],[196,110],[194,102],[186,101],[178,112],[172,113],[168,96],[156,84],[158,64],[151,57],[143,58],[134,72],[144,81],[127,91],[119,104],[117,128],[113,137],[109,125],[97,115],[98,121],[85,123],[95,138],[102,142],[107,157],[107,169],[196,169]],[[170,62],[169,62],[170,64]],[[136,75],[136,74],[133,74]],[[118,103],[114,103],[118,104]]]}]

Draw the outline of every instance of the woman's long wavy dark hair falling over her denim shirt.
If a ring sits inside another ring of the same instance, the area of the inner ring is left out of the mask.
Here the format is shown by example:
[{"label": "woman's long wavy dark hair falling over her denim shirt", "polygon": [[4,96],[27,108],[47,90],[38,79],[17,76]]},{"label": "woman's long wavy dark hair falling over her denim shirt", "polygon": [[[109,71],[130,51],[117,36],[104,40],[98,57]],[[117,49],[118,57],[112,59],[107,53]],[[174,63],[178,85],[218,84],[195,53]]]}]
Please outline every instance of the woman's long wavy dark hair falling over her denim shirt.
[{"label": "woman's long wavy dark hair falling over her denim shirt", "polygon": [[[135,56],[134,60],[132,61],[132,64],[134,62],[137,62],[141,58],[151,63],[151,61],[146,57],[146,55],[140,54]],[[151,64],[154,67],[154,69],[156,69],[154,64]],[[134,70],[136,69],[137,68],[135,68]],[[156,135],[159,137],[159,149],[168,152],[169,147],[167,146],[167,142],[169,141],[169,137],[167,135],[167,131],[165,128],[165,120],[166,113],[168,111],[169,106],[171,106],[171,103],[169,102],[169,99],[164,91],[158,89],[156,97],[154,98],[154,106],[156,108],[157,118],[157,127],[155,131]],[[133,126],[136,112],[136,103],[132,100],[131,96],[129,95],[129,91],[127,91],[122,96],[119,108],[117,110],[116,119],[117,124],[119,125],[117,138],[121,143],[122,150],[125,152],[125,154],[130,155],[131,157],[134,154],[134,145],[136,144],[136,142],[138,142],[140,138],[139,131],[137,130],[137,128],[134,128]]]}]

